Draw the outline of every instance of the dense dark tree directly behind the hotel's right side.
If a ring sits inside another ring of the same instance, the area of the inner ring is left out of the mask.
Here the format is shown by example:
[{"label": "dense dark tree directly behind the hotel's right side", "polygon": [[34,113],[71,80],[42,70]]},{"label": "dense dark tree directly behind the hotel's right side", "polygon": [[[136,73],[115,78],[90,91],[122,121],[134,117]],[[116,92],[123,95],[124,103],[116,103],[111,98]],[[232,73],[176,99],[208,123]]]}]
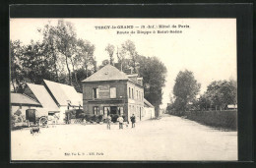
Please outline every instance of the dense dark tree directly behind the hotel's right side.
[{"label": "dense dark tree directly behind the hotel's right side", "polygon": [[138,56],[139,76],[143,77],[145,98],[155,106],[156,116],[160,113],[162,87],[165,83],[166,67],[157,57]]}]

